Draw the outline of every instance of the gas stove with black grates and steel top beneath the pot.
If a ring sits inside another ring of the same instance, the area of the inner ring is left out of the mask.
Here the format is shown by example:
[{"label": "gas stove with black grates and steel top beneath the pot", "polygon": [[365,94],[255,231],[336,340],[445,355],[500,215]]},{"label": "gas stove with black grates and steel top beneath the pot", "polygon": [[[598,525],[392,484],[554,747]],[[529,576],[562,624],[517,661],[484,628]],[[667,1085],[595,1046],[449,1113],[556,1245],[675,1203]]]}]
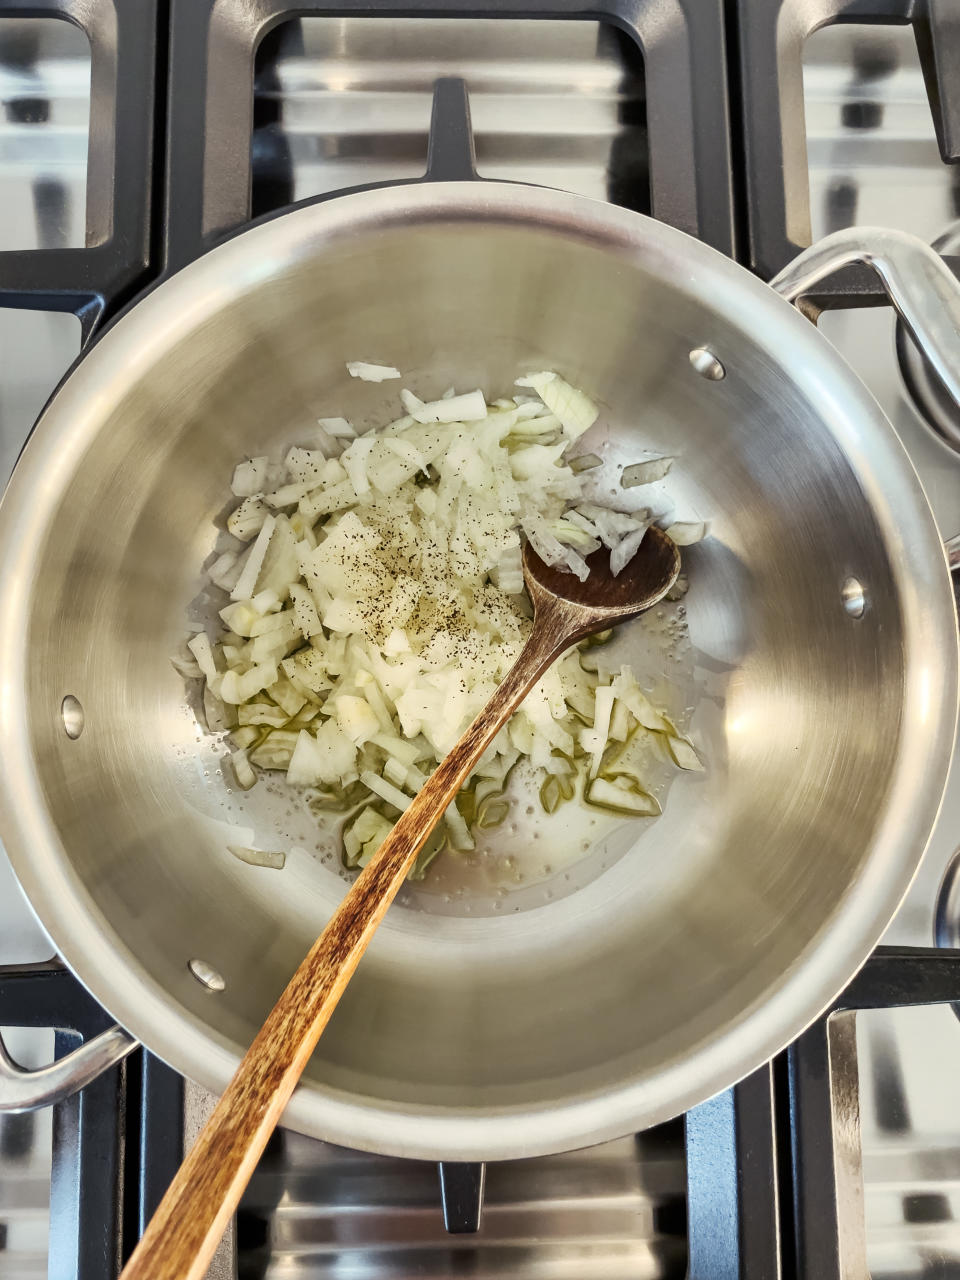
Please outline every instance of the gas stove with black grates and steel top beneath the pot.
[{"label": "gas stove with black grates and steel top beneath the pot", "polygon": [[[458,175],[468,131],[483,178],[652,214],[763,278],[855,223],[943,237],[960,270],[956,0],[0,0],[0,104],[4,479],[151,280],[298,201]],[[850,270],[806,308],[955,535],[954,411],[882,302]],[[884,946],[726,1094],[586,1151],[439,1174],[279,1130],[211,1275],[960,1276],[957,845],[955,768]],[[12,1057],[40,1066],[109,1023],[0,856]],[[0,1116],[0,1276],[113,1280],[210,1106],[137,1052]]]}]

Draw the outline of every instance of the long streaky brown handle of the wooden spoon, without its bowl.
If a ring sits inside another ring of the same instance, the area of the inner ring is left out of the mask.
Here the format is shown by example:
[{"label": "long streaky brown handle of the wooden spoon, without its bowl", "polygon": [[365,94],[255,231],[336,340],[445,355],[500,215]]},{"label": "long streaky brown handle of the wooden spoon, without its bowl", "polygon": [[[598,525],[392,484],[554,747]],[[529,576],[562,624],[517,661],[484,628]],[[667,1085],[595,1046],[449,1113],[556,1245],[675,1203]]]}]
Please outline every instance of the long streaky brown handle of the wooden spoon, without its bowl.
[{"label": "long streaky brown handle of the wooden spoon, without its bowl", "polygon": [[538,613],[503,684],[428,778],[291,978],[180,1165],[122,1280],[201,1280],[360,957],[419,850],[511,713],[567,641]]}]

